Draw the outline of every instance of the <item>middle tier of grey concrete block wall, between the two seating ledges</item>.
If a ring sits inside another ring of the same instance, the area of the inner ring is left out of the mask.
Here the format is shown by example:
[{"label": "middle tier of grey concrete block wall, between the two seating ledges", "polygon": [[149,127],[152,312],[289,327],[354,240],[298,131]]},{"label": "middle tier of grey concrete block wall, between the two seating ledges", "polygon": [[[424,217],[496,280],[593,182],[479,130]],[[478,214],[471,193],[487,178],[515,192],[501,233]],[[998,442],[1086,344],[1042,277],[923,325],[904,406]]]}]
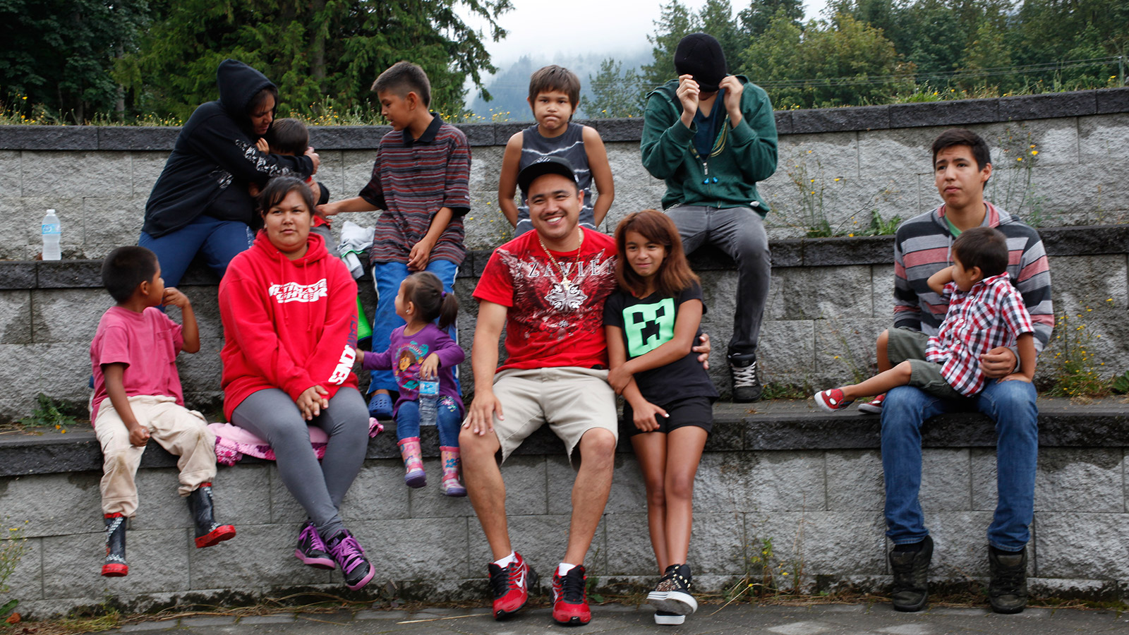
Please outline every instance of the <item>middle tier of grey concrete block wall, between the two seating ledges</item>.
[{"label": "middle tier of grey concrete block wall, between the two seating ledges", "polygon": [[[1069,316],[1054,337],[1087,333],[1086,350],[1099,372],[1124,373],[1129,369],[1129,225],[1048,228],[1042,235],[1050,253],[1056,311]],[[771,249],[772,282],[759,348],[763,381],[806,390],[868,375],[875,339],[892,321],[892,238],[776,240]],[[460,341],[467,350],[478,311],[471,294],[489,255],[472,252],[455,285],[462,307]],[[692,263],[709,307],[702,328],[714,341],[710,373],[726,395],[729,376],[724,355],[733,332],[736,273],[732,262],[716,252],[698,254]],[[0,262],[0,382],[14,389],[0,394],[0,417],[30,414],[38,392],[86,402],[89,342],[102,313],[113,304],[100,288],[99,271],[95,260]],[[362,278],[359,288],[365,306],[375,306],[370,278]],[[177,359],[185,399],[218,416],[224,329],[216,278],[193,269],[182,289],[192,301],[201,332],[200,351]],[[180,319],[175,307],[169,314]],[[1085,329],[1077,331],[1077,325]],[[1054,355],[1064,350],[1064,341],[1056,339],[1040,357],[1041,384],[1059,373]],[[461,372],[464,394],[470,395],[469,359]]]}]

